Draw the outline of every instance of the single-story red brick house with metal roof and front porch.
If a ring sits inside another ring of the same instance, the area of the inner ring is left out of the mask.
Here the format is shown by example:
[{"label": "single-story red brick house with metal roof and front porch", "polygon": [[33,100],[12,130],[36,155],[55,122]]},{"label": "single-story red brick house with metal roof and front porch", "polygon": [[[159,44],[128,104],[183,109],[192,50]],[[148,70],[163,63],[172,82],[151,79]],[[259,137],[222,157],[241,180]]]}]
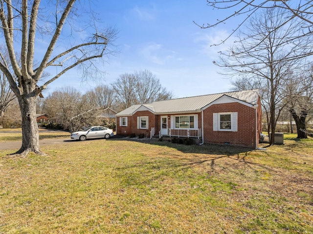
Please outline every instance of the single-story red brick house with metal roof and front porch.
[{"label": "single-story red brick house with metal roof and front porch", "polygon": [[262,127],[258,90],[133,105],[116,114],[116,134],[192,137],[201,144],[257,148]]}]

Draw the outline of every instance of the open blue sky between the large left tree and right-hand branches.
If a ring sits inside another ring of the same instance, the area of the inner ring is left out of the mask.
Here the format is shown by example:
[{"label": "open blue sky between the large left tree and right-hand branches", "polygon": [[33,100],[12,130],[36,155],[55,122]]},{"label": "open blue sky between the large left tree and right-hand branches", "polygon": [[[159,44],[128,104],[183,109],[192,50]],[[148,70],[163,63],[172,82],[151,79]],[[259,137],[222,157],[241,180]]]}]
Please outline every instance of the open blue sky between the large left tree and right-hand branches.
[{"label": "open blue sky between the large left tree and right-hand branches", "polygon": [[228,22],[201,29],[193,23],[212,23],[226,12],[213,10],[206,0],[99,0],[94,10],[104,25],[119,31],[115,44],[120,53],[106,66],[99,64],[106,71],[105,79],[81,82],[79,74],[72,71],[52,82],[45,93],[62,86],[84,92],[100,83],[110,84],[121,74],[140,70],[151,71],[175,98],[229,91],[230,80],[217,73],[221,70],[213,60],[231,41],[210,45],[225,39],[234,25]]}]

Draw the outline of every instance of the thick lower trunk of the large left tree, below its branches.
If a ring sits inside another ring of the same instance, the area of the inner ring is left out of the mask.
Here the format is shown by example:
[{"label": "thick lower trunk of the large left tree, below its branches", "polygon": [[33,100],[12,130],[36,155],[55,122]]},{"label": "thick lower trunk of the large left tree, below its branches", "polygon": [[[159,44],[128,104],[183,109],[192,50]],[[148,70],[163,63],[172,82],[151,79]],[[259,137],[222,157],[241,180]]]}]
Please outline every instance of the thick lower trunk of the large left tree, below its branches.
[{"label": "thick lower trunk of the large left tree, below its branches", "polygon": [[22,113],[22,147],[16,152],[26,156],[29,152],[44,155],[40,151],[36,121],[36,97],[18,97]]}]

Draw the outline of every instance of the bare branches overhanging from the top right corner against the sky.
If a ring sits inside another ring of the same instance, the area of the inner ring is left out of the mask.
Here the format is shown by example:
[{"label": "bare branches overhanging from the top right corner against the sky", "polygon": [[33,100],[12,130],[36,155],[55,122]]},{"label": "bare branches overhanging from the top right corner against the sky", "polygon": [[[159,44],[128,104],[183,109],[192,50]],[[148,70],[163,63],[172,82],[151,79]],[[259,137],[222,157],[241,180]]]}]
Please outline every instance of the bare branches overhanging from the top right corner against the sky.
[{"label": "bare branches overhanging from the top right corner against the sky", "polygon": [[[299,27],[298,30],[301,32],[301,36],[306,36],[312,34],[311,27],[313,26],[313,1],[312,0],[207,0],[207,5],[213,7],[213,9],[218,10],[229,10],[229,14],[218,19],[215,23],[199,25],[201,28],[212,28],[219,24],[225,24],[227,21],[233,19],[234,17],[239,18],[239,23],[236,28],[233,29],[232,33],[224,40],[230,38],[235,32],[237,32],[241,26],[243,26],[249,17],[253,16],[255,13],[262,9],[283,9],[284,15],[281,18],[284,19],[276,27],[284,27],[291,20],[302,21],[304,27]],[[274,30],[274,29],[273,29]],[[312,51],[307,54],[298,55],[299,57],[306,57],[312,55]]]}]

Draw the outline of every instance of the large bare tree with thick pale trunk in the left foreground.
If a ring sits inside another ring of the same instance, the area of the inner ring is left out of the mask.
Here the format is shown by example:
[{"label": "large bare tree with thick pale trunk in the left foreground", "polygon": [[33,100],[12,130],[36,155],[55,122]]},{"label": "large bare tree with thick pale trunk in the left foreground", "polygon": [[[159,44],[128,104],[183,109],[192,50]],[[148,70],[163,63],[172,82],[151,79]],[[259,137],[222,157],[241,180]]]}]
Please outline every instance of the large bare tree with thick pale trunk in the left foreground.
[{"label": "large bare tree with thick pale trunk in the left foreground", "polygon": [[[107,58],[114,53],[112,41],[116,36],[116,30],[97,28],[97,20],[93,13],[90,11],[86,14],[83,2],[75,3],[76,0],[0,1],[1,33],[5,39],[13,72],[2,61],[0,70],[8,79],[20,103],[22,147],[16,153],[22,156],[30,151],[43,154],[40,151],[36,123],[36,99],[47,85],[74,67],[82,69],[81,74],[85,78],[93,75],[92,71],[97,68],[95,59]],[[84,17],[90,16],[91,19],[85,22],[80,20],[79,24],[71,23],[83,14],[79,7],[83,8]],[[65,26],[67,29],[70,28],[67,30],[69,35],[63,30]],[[82,37],[79,36],[82,34],[76,34],[79,32],[85,32],[89,37],[80,40]],[[35,39],[42,39],[47,43],[37,67],[34,65],[37,43]],[[68,40],[61,44],[60,39]],[[17,58],[16,51],[20,51],[20,58]],[[0,54],[2,53],[1,50]],[[18,62],[19,60],[21,62]],[[45,69],[51,66],[59,66],[62,69],[57,70],[56,75],[51,78],[43,80]]]}]

